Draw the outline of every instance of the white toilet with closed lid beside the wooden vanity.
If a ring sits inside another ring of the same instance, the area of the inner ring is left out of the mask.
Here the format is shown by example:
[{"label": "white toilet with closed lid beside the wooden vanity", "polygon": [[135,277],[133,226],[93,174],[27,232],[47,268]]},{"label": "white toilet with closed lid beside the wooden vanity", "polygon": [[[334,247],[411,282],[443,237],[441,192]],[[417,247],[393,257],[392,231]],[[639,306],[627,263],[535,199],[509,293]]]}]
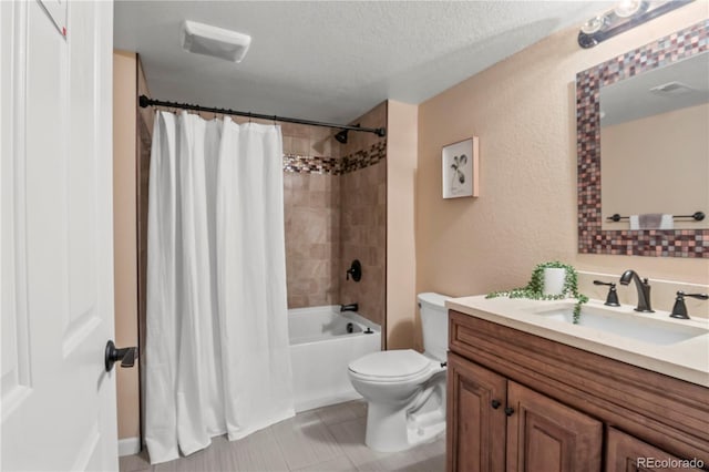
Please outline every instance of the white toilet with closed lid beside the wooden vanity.
[{"label": "white toilet with closed lid beside the wooden vanity", "polygon": [[349,365],[352,387],[368,403],[364,442],[376,451],[403,451],[445,431],[448,298],[433,293],[418,297],[423,353],[380,351]]}]

